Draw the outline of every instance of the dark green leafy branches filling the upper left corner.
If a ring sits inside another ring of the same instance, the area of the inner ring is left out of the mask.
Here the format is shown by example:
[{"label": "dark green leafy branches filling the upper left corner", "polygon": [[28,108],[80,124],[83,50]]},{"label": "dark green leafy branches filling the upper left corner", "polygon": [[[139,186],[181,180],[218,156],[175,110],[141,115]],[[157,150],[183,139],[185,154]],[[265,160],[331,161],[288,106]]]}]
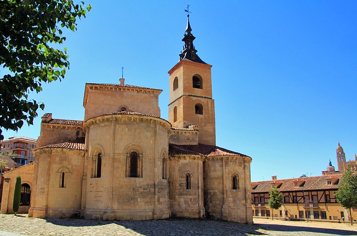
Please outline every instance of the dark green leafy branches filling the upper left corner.
[{"label": "dark green leafy branches filling the upper left corner", "polygon": [[[0,128],[17,131],[24,121],[33,124],[37,109],[30,91],[42,83],[65,78],[69,69],[67,48],[56,49],[66,37],[63,28],[77,30],[77,18],[91,6],[73,0],[1,0],[0,7]],[[7,72],[6,72],[7,71]],[[0,130],[0,141],[3,140]]]}]

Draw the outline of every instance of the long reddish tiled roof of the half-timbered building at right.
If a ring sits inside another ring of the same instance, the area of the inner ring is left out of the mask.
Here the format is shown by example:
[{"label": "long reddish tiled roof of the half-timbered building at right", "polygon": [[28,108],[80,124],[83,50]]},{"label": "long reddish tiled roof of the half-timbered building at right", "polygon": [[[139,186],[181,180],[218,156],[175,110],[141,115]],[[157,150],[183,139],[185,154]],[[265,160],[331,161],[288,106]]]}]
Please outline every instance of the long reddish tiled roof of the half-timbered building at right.
[{"label": "long reddish tiled roof of the half-timbered building at right", "polygon": [[[271,185],[274,185],[275,182],[281,184],[279,190],[284,191],[307,191],[307,190],[318,190],[318,189],[338,189],[338,181],[332,183],[332,185],[327,185],[328,179],[341,179],[342,174],[334,175],[324,175],[324,176],[312,176],[312,177],[302,177],[302,178],[293,178],[293,179],[282,179],[282,180],[269,180],[269,181],[258,181],[252,182],[253,186],[257,186],[255,189],[252,189],[252,193],[257,192],[268,192],[271,188]],[[303,182],[299,187],[294,187],[294,182]]]}]

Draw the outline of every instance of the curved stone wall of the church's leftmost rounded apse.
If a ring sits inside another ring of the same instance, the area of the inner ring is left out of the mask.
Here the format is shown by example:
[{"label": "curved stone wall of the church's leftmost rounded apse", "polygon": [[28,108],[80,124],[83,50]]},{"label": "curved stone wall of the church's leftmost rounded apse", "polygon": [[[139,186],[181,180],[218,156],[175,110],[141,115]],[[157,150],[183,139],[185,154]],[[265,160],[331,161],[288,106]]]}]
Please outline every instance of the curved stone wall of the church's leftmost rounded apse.
[{"label": "curved stone wall of the church's leftmost rounded apse", "polygon": [[[36,198],[29,215],[70,217],[81,210],[84,151],[43,148],[36,150]],[[65,173],[62,185],[62,173]]]}]

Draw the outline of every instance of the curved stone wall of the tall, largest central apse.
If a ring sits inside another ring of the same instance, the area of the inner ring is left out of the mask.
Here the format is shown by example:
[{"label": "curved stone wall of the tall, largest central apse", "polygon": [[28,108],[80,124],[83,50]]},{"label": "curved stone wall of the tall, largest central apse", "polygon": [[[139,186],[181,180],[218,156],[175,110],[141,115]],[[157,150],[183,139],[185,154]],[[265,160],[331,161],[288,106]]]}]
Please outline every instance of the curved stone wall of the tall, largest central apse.
[{"label": "curved stone wall of the tall, largest central apse", "polygon": [[[89,147],[86,171],[86,218],[143,220],[169,217],[168,157],[171,125],[146,116],[105,116],[86,124]],[[102,174],[92,178],[92,159],[102,154]],[[139,177],[130,177],[130,154],[139,154]]]}]

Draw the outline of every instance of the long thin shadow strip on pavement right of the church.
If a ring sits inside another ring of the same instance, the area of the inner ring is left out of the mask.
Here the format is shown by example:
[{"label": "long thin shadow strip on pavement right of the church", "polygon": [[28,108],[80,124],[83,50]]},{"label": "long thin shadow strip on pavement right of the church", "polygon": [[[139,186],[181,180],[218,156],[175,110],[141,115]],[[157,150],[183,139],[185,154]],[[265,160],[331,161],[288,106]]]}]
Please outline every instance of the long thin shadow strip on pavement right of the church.
[{"label": "long thin shadow strip on pavement right of the church", "polygon": [[339,229],[324,229],[304,226],[289,226],[289,225],[273,225],[273,224],[254,224],[261,229],[280,232],[307,232],[307,233],[323,233],[333,235],[357,235],[357,231],[339,230]]}]

